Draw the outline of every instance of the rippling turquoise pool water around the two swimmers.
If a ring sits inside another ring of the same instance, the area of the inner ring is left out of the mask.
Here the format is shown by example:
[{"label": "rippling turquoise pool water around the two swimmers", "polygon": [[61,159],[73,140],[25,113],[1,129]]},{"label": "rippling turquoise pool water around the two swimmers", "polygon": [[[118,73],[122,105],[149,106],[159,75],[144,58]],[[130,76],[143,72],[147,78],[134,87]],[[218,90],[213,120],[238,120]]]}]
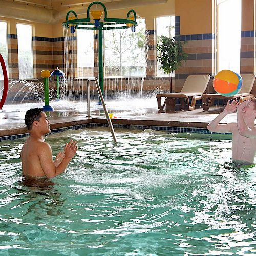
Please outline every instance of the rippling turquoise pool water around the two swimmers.
[{"label": "rippling turquoise pool water around the two swimmers", "polygon": [[48,135],[78,152],[48,189],[24,186],[26,138],[0,143],[0,254],[256,253],[255,170],[231,163],[231,136],[117,129]]}]

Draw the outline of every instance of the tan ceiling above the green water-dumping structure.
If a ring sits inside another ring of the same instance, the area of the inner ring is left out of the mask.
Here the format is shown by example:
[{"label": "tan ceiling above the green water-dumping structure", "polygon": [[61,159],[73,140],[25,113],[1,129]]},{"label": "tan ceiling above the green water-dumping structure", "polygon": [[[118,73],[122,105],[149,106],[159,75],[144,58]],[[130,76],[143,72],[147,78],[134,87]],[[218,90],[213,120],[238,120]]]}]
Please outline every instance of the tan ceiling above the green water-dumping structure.
[{"label": "tan ceiling above the green water-dumping structure", "polygon": [[[166,3],[168,0],[101,0],[108,10],[120,10],[124,8],[135,8],[136,6],[147,6],[151,4]],[[88,0],[0,0],[0,17],[16,18],[54,24],[66,17],[69,10],[76,14],[85,14],[87,7],[93,1]],[[93,6],[93,9],[97,5]],[[102,7],[100,7],[102,8]],[[28,15],[29,13],[29,15]]]}]

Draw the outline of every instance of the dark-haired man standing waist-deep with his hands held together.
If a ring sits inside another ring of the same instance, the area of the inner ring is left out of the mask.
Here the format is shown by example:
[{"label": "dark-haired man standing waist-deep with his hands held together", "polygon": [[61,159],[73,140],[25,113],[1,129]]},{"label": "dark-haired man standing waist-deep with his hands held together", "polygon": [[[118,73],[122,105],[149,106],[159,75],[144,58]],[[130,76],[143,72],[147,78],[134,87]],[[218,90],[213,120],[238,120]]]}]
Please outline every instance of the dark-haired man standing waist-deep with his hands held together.
[{"label": "dark-haired man standing waist-deep with his hands held together", "polygon": [[63,173],[76,154],[76,141],[66,143],[64,152],[59,152],[53,161],[51,146],[44,141],[45,134],[51,132],[46,113],[41,108],[28,110],[25,124],[29,130],[29,137],[20,153],[23,175],[52,178]]}]

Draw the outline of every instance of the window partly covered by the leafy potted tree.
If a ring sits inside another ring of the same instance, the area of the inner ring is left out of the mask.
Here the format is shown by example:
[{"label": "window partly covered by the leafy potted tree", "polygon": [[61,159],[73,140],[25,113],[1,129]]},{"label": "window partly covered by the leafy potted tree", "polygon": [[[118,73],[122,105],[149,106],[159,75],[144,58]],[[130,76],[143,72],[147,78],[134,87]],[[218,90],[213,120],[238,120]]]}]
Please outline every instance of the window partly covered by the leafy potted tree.
[{"label": "window partly covered by the leafy potted tree", "polygon": [[[156,25],[157,42],[159,42],[161,35],[167,36],[169,38],[174,37],[174,16],[156,18]],[[164,71],[160,69],[160,67],[161,63],[157,61],[157,76],[169,76],[168,74],[164,74]]]}]

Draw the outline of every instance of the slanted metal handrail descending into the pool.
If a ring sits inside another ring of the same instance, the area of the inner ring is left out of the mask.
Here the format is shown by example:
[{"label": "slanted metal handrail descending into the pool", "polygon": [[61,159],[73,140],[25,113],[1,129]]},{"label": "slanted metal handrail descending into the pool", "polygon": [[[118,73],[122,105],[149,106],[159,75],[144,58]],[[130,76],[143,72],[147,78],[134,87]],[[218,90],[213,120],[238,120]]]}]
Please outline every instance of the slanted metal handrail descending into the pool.
[{"label": "slanted metal handrail descending into the pool", "polygon": [[103,106],[103,109],[105,112],[106,120],[108,121],[108,124],[110,126],[110,131],[111,131],[114,143],[117,145],[116,134],[115,134],[115,131],[114,131],[114,128],[113,128],[113,125],[112,125],[112,122],[111,122],[111,119],[109,116],[109,112],[106,109],[105,100],[104,100],[102,92],[100,90],[99,81],[98,81],[97,77],[88,78],[88,80],[87,80],[87,116],[88,116],[88,118],[90,117],[90,81],[95,81],[96,88],[98,90],[99,97],[100,97],[100,100],[101,100],[101,103],[102,103],[102,106]]}]

